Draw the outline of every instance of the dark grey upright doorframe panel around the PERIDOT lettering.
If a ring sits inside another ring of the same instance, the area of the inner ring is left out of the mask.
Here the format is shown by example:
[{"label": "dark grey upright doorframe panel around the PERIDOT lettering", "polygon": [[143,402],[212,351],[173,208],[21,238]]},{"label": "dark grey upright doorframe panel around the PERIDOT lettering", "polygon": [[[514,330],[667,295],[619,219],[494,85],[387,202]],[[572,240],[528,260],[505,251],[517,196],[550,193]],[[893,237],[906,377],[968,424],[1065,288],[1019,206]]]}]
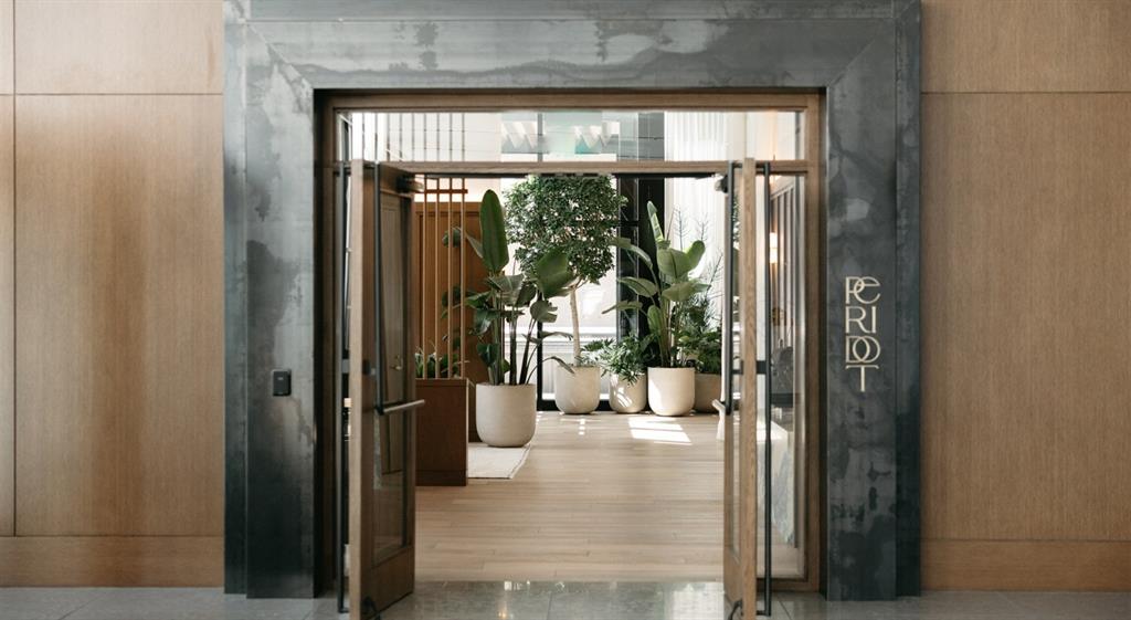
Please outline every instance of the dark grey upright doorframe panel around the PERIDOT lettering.
[{"label": "dark grey upright doorframe panel around the PERIDOT lettering", "polygon": [[[896,595],[896,86],[886,26],[828,89],[827,578],[831,600]],[[879,281],[879,368],[845,368],[845,278]]]}]

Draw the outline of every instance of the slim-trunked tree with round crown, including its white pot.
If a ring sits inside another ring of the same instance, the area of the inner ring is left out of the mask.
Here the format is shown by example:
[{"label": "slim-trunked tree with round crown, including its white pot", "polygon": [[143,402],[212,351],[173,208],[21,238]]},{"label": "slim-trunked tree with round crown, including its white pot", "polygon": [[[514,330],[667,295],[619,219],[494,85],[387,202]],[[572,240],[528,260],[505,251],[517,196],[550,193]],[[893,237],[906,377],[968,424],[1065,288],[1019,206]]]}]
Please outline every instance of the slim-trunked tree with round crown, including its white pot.
[{"label": "slim-trunked tree with round crown, including its white pot", "polygon": [[601,369],[581,348],[577,289],[613,268],[608,246],[624,203],[608,176],[529,176],[507,192],[507,230],[523,269],[563,252],[577,278],[566,291],[573,359],[554,368],[554,404],[563,413],[590,413],[601,402]]}]

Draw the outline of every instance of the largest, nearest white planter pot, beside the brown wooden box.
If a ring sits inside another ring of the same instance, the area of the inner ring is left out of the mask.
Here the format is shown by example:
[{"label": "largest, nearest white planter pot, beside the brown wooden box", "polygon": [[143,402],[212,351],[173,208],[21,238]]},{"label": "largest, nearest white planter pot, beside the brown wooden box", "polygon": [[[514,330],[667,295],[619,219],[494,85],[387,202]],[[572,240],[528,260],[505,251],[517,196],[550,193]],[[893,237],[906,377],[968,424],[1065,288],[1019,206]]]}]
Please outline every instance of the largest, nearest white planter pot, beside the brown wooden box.
[{"label": "largest, nearest white planter pot, beside the brown wooden box", "polygon": [[475,386],[475,430],[487,446],[517,448],[534,439],[534,386]]}]

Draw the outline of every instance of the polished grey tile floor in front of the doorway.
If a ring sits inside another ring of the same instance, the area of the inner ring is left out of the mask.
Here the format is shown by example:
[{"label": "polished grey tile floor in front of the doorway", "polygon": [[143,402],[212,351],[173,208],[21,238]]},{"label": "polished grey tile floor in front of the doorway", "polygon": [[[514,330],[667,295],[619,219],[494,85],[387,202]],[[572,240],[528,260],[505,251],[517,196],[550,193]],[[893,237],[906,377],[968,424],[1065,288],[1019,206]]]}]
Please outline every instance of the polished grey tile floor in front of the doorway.
[{"label": "polished grey tile floor in front of the doorway", "polygon": [[[418,583],[383,620],[720,620],[717,583]],[[884,603],[779,594],[784,620],[1128,620],[1131,593],[941,592]],[[207,588],[0,588],[0,620],[337,620],[330,600]]]}]

